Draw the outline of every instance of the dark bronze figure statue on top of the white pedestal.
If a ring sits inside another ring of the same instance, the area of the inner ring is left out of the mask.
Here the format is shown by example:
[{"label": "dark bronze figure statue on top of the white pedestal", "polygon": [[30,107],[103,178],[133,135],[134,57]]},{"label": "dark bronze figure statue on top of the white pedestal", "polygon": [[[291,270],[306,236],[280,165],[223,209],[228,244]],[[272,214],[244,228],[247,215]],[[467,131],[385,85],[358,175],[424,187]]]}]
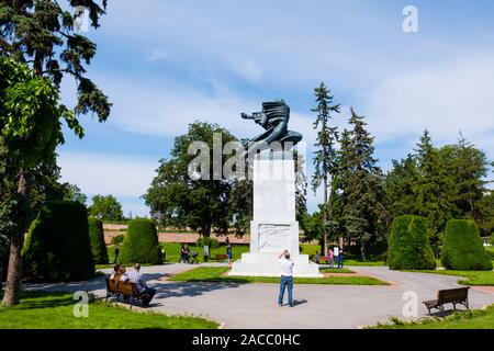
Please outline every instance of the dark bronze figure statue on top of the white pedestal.
[{"label": "dark bronze figure statue on top of the white pedestal", "polygon": [[[251,115],[242,113],[244,120],[254,120],[261,125],[266,132],[250,139],[246,144],[246,156],[269,148],[273,141],[281,143],[284,148],[285,143],[291,146],[302,140],[302,134],[288,129],[290,120],[290,107],[283,101],[263,102],[262,112],[255,112]],[[287,149],[285,149],[287,150]]]}]

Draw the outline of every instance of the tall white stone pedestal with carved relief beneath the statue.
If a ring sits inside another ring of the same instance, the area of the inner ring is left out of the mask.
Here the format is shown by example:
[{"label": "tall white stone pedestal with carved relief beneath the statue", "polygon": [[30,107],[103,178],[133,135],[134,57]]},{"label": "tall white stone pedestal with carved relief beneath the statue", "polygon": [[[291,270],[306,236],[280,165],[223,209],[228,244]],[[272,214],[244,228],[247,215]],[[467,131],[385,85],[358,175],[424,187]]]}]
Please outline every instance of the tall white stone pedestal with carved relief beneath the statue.
[{"label": "tall white stone pedestal with carved relief beneath the statue", "polygon": [[323,276],[318,265],[299,253],[295,219],[295,165],[282,154],[265,152],[254,160],[254,220],[250,250],[233,263],[229,275],[280,276],[278,256],[288,249],[294,276]]}]

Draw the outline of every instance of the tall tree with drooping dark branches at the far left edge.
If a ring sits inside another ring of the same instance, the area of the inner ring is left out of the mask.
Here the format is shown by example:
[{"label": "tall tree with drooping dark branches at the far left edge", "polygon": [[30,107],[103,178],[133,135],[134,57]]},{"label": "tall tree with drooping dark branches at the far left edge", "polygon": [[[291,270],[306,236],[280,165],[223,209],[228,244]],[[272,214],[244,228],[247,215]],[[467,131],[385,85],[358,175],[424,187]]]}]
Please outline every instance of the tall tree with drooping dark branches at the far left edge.
[{"label": "tall tree with drooping dark branches at the far left edge", "polygon": [[[69,9],[85,7],[94,29],[99,26],[105,5],[105,0],[102,7],[92,0],[68,2]],[[2,137],[9,152],[15,155],[11,159],[18,161],[16,194],[24,203],[30,203],[32,169],[49,159],[56,145],[64,140],[59,120],[64,118],[67,126],[82,137],[78,115],[92,112],[102,122],[110,114],[106,95],[86,77],[85,65],[91,63],[96,49],[94,43],[75,32],[75,16],[56,0],[0,2],[0,56],[27,64],[35,76],[23,66],[2,61]],[[77,82],[78,102],[74,111],[57,104],[58,86],[65,75]],[[11,238],[2,302],[7,306],[19,302],[24,229],[20,228]]]}]

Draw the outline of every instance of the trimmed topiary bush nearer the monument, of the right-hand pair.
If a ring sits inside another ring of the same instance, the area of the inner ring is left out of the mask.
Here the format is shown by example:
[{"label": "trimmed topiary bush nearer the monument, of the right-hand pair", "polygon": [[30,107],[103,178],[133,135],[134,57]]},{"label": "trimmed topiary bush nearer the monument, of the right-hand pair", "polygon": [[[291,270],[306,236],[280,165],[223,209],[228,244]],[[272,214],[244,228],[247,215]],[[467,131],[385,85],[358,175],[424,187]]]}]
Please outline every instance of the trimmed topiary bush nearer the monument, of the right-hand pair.
[{"label": "trimmed topiary bush nearer the monument, of the right-hand pair", "polygon": [[394,218],[388,245],[388,265],[392,270],[436,269],[436,259],[424,217]]}]

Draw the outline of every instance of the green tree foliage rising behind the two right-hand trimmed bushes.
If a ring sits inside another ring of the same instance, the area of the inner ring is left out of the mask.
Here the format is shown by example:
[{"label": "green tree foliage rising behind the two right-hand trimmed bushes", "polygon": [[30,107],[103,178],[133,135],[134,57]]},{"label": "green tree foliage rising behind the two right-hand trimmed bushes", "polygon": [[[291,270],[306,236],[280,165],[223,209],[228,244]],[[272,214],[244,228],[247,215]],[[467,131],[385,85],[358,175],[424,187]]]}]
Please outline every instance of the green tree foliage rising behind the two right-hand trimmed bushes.
[{"label": "green tree foliage rising behind the two right-hand trimmed bushes", "polygon": [[475,219],[489,235],[494,228],[494,202],[484,180],[489,165],[485,154],[463,137],[437,148],[426,131],[415,152],[393,161],[386,176],[391,215],[425,216],[436,256],[446,223],[453,217]]}]

